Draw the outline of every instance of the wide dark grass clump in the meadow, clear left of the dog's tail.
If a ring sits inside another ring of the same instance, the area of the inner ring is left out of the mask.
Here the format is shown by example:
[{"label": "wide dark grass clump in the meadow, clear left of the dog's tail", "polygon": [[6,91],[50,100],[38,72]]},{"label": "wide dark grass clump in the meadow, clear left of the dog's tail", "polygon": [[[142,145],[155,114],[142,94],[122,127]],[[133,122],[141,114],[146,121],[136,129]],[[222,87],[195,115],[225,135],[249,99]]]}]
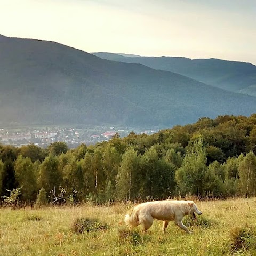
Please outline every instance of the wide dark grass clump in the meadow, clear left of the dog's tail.
[{"label": "wide dark grass clump in the meadow, clear left of the dog's tail", "polygon": [[77,218],[71,226],[71,229],[74,233],[85,233],[90,231],[97,230],[106,230],[108,229],[108,225],[105,223],[100,223],[97,219],[91,218]]}]

